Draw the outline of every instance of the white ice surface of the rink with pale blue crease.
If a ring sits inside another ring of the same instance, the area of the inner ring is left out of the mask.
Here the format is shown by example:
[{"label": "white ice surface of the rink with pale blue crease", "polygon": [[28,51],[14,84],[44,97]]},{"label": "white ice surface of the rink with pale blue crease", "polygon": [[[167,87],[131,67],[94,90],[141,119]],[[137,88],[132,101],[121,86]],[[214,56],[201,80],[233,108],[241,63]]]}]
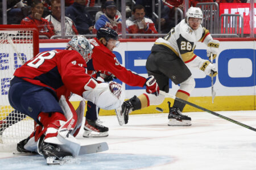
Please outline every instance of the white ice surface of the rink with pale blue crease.
[{"label": "white ice surface of the rink with pale blue crease", "polygon": [[[217,113],[256,128],[256,111]],[[0,169],[256,169],[256,131],[206,112],[184,114],[192,126],[167,126],[167,113],[132,114],[124,126],[101,116],[109,137],[82,138],[81,130],[77,138],[84,145],[107,142],[108,151],[52,166],[43,156],[0,152]]]}]

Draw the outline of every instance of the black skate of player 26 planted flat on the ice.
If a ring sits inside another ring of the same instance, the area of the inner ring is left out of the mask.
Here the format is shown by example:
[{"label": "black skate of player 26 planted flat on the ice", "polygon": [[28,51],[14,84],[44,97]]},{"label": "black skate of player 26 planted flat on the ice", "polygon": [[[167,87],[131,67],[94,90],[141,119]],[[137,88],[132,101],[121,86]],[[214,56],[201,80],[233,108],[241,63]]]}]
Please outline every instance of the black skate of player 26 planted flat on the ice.
[{"label": "black skate of player 26 planted flat on the ice", "polygon": [[191,126],[191,118],[181,114],[179,108],[171,107],[171,103],[168,101],[169,115],[168,126]]}]

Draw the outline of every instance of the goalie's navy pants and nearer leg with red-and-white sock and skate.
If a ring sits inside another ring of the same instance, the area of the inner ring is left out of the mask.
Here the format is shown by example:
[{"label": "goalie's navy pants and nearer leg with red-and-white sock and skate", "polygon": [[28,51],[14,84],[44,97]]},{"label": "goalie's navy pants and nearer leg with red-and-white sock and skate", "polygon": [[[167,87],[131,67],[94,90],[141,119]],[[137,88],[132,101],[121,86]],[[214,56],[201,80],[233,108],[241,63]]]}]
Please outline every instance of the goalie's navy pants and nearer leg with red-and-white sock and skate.
[{"label": "goalie's navy pants and nearer leg with red-and-white sock and skate", "polygon": [[59,128],[67,119],[51,91],[27,82],[14,83],[9,90],[9,101],[13,108],[27,114],[44,127],[39,135],[41,141],[38,145],[44,158],[55,155],[55,159],[60,159],[64,155],[72,155],[60,147],[63,143],[57,138]]}]

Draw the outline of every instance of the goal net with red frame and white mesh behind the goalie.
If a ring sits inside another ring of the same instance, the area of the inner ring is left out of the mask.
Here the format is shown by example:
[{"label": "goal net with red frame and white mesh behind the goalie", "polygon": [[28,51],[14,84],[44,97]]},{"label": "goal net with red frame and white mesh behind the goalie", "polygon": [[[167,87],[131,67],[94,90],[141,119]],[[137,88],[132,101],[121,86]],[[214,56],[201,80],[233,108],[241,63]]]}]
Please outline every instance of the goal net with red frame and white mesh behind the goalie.
[{"label": "goal net with red frame and white mesh behind the goalie", "polygon": [[0,146],[17,143],[34,130],[34,120],[10,106],[8,92],[14,71],[38,53],[36,27],[0,25]]}]

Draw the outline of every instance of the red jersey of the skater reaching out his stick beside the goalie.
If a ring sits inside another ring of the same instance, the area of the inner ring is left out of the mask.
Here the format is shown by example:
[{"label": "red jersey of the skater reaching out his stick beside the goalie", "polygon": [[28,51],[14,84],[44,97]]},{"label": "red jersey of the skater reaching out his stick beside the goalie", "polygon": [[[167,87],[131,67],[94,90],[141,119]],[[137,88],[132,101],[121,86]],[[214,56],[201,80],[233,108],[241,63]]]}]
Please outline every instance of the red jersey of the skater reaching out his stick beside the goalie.
[{"label": "red jersey of the skater reaching out his stick beside the goalie", "polygon": [[90,39],[90,43],[93,45],[93,53],[92,59],[87,63],[88,70],[108,71],[129,86],[144,86],[146,78],[121,66],[115,54],[100,41],[94,38]]}]

